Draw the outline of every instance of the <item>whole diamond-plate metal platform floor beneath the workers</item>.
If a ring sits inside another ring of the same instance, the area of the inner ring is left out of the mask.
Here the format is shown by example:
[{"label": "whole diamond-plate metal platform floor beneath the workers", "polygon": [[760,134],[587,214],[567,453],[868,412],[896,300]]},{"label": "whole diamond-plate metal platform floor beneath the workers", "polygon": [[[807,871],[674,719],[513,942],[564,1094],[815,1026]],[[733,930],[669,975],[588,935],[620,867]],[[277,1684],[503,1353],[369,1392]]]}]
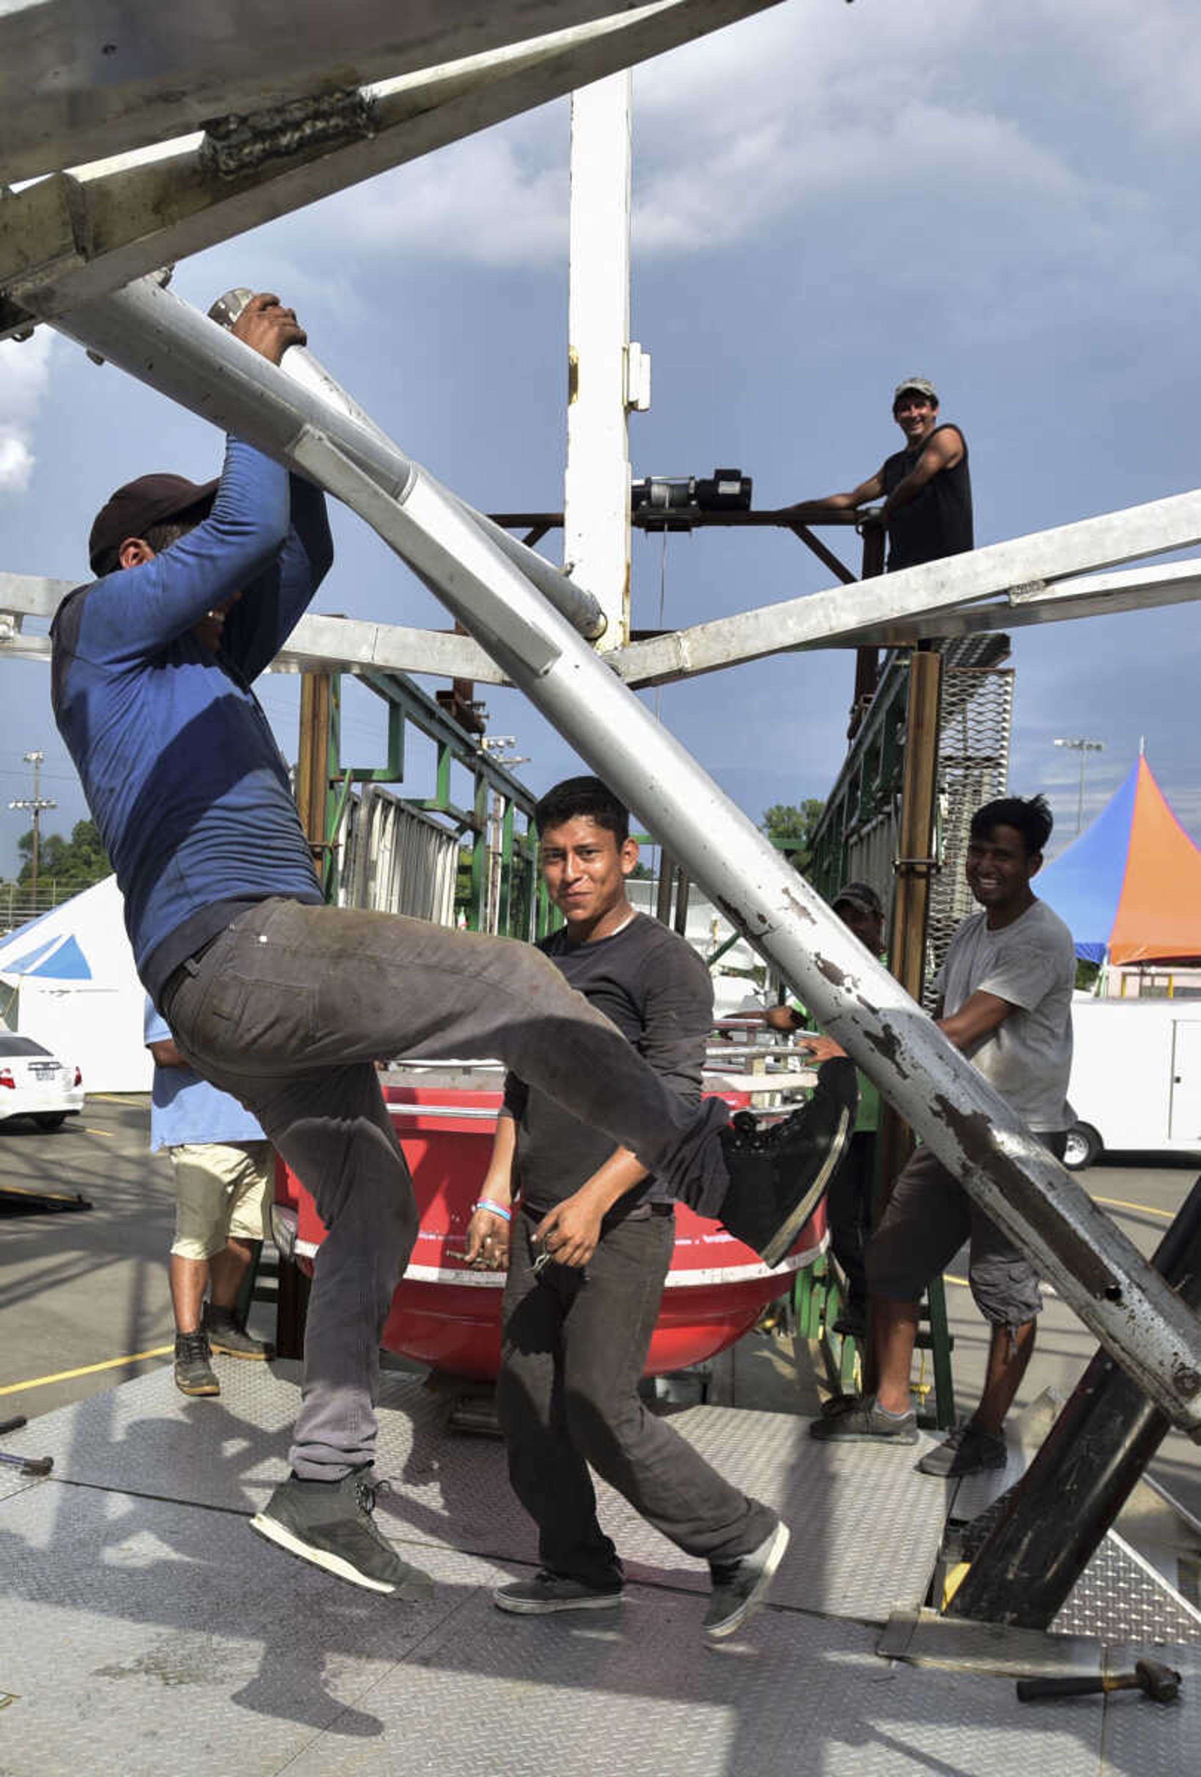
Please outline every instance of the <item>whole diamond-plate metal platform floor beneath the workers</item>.
[{"label": "whole diamond-plate metal platform floor beneath the workers", "polygon": [[295,1370],[224,1365],[222,1384],[185,1400],[163,1368],[5,1438],[55,1471],[0,1486],[0,1777],[1197,1768],[1196,1649],[1165,1654],[1190,1674],[1173,1722],[1144,1722],[1169,1713],[1149,1704],[1116,1720],[1126,1695],[1034,1709],[997,1672],[874,1651],[894,1605],[919,1608],[947,1510],[911,1452],[823,1448],[789,1414],[673,1414],[794,1526],[771,1603],[711,1649],[704,1567],[611,1493],[625,1605],[501,1615],[490,1589],[533,1560],[503,1448],[442,1430],[410,1377],[386,1377],[378,1470],[396,1494],[380,1523],[433,1574],[433,1601],[286,1558],[245,1518],[284,1473]]}]

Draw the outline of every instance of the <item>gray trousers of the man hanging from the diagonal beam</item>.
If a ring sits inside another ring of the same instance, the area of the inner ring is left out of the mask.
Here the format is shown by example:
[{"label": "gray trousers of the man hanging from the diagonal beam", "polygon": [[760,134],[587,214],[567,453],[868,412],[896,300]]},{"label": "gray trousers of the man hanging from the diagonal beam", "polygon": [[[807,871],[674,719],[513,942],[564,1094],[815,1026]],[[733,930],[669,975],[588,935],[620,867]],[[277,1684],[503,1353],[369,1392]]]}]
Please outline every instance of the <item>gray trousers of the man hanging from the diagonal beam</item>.
[{"label": "gray trousers of the man hanging from the diagonal beam", "polygon": [[291,1466],[371,1462],[378,1338],[418,1233],[375,1059],[496,1057],[716,1215],[720,1100],[686,1105],[531,945],[394,913],[263,901],[178,970],[163,1016],[195,1072],[242,1100],[329,1230]]}]

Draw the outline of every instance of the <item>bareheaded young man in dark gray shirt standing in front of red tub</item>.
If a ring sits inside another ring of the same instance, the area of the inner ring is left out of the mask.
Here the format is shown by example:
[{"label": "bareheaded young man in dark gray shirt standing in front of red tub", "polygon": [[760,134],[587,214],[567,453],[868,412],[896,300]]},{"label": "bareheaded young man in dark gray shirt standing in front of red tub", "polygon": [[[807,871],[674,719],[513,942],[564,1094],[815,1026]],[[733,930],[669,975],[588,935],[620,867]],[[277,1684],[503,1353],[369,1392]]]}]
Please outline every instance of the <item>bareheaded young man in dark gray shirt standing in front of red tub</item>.
[{"label": "bareheaded young man in dark gray shirt standing in front of red tub", "polygon": [[[542,878],[567,920],[540,949],[664,1086],[698,1104],[712,979],[684,938],[631,906],[638,844],[624,805],[599,778],[567,778],[542,798],[535,823]],[[622,1562],[597,1521],[590,1468],[677,1548],[709,1562],[711,1638],[732,1635],[771,1583],[787,1526],[638,1395],[673,1246],[663,1183],[510,1073],[467,1253],[508,1260],[496,1406],[542,1567],[497,1587],[501,1610],[620,1605]]]}]

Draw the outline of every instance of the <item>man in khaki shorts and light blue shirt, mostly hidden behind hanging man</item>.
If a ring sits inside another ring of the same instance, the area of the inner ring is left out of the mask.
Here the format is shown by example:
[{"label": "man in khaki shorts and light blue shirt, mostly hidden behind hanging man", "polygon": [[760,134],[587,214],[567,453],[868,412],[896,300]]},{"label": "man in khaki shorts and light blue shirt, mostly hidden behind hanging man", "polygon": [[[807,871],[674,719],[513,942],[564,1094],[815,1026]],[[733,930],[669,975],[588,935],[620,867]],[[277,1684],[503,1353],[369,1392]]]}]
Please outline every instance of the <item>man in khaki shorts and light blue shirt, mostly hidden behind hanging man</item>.
[{"label": "man in khaki shorts and light blue shirt, mostly hidden behind hanging man", "polygon": [[213,1352],[258,1361],[270,1356],[238,1320],[236,1303],[252,1242],[268,1231],[272,1146],[236,1098],[192,1072],[149,999],[146,1047],[155,1057],[151,1150],[165,1148],[176,1173],[176,1388],[219,1395]]}]

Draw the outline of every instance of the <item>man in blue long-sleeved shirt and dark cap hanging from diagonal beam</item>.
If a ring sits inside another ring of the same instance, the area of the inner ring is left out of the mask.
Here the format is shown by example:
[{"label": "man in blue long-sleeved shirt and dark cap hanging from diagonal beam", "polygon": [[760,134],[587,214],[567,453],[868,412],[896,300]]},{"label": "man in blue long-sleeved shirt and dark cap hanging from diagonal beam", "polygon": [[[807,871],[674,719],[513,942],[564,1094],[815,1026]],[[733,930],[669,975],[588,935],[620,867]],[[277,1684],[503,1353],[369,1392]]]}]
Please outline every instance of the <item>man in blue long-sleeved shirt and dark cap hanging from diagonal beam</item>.
[{"label": "man in blue long-sleeved shirt and dark cap hanging from diagonal beam", "polygon": [[[306,339],[272,295],[233,334],[272,363]],[[373,1518],[378,1336],[418,1228],[375,1057],[499,1057],[764,1256],[808,1214],[840,1107],[826,1095],[782,1132],[730,1130],[529,945],[323,904],[252,682],[330,562],[320,490],[240,439],[215,485],[131,482],[92,526],[98,578],[55,617],[52,686],[151,999],[327,1228],[291,1475],[254,1528],[355,1585],[423,1598],[430,1582]]]}]

